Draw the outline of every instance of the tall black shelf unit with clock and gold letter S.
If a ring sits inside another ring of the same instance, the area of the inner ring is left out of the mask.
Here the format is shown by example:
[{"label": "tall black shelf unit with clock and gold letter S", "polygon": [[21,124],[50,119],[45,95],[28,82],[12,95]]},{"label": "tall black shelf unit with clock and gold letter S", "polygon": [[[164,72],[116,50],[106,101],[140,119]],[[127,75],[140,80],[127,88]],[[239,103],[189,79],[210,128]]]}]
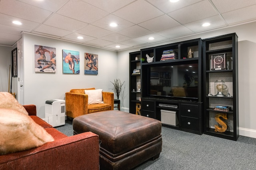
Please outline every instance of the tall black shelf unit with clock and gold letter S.
[{"label": "tall black shelf unit with clock and gold letter S", "polygon": [[236,33],[204,39],[203,58],[204,133],[236,141],[239,137]]}]

